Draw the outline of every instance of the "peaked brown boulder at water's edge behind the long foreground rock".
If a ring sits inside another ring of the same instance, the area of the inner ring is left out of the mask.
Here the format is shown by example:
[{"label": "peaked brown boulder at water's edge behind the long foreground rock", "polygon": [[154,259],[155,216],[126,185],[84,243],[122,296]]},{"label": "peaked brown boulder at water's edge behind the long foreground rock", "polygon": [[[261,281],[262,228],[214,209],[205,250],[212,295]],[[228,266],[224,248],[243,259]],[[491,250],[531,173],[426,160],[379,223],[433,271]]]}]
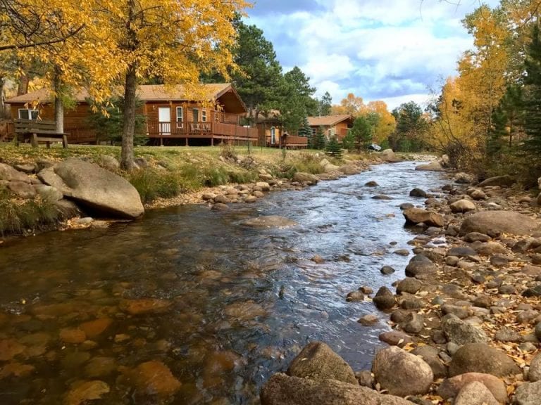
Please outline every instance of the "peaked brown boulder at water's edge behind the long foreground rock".
[{"label": "peaked brown boulder at water's edge behind the long foreground rock", "polygon": [[355,373],[342,357],[323,342],[310,342],[293,359],[287,374],[314,381],[338,380],[356,384]]}]

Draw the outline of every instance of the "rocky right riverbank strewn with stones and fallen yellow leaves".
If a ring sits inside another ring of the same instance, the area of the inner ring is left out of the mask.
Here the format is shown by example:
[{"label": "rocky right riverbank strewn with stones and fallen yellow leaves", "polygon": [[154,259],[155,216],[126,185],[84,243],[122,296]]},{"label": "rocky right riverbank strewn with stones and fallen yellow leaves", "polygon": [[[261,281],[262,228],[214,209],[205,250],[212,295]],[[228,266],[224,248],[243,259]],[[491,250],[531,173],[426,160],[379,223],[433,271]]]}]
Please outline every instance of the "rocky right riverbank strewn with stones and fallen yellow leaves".
[{"label": "rocky right riverbank strewn with stones and fallen yellow leaves", "polygon": [[415,191],[418,206],[402,208],[422,232],[395,293],[355,286],[344,297],[373,302],[359,319],[366,328],[390,317],[371,370],[311,342],[263,385],[261,403],[540,405],[541,211],[511,185],[456,174],[441,190]]}]

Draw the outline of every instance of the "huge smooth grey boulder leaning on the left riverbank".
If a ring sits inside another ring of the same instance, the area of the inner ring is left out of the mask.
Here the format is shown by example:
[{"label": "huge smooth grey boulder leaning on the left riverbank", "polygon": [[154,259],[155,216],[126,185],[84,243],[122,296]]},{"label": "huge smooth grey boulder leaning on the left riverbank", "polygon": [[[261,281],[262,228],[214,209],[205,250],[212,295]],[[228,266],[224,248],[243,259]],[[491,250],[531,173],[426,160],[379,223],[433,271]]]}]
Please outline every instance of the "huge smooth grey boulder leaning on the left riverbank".
[{"label": "huge smooth grey boulder leaning on the left riverbank", "polygon": [[144,214],[141,197],[135,187],[94,163],[70,158],[43,169],[38,177],[92,214],[128,219]]}]

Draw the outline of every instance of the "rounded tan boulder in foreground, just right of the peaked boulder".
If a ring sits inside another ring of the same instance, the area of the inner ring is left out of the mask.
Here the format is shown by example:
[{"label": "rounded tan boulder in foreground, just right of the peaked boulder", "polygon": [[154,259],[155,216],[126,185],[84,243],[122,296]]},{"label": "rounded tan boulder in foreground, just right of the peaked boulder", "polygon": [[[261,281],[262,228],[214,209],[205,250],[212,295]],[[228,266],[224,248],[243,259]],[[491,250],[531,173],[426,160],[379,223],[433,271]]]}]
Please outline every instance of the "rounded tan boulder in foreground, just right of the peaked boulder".
[{"label": "rounded tan boulder in foreground, just right of the peaked boulder", "polygon": [[425,394],[434,379],[432,368],[421,357],[395,346],[375,354],[372,372],[384,390],[399,397]]}]

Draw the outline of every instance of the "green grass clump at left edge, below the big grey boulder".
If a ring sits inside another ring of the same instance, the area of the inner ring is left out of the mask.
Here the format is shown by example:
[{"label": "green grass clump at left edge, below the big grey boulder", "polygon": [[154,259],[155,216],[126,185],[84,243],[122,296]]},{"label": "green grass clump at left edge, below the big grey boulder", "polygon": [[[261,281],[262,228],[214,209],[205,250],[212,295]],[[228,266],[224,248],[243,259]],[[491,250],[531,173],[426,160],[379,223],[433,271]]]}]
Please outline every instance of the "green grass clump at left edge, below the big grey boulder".
[{"label": "green grass clump at left edge, below the big grey boulder", "polygon": [[57,224],[60,212],[54,203],[42,198],[18,200],[6,189],[0,190],[0,234],[21,234]]}]

